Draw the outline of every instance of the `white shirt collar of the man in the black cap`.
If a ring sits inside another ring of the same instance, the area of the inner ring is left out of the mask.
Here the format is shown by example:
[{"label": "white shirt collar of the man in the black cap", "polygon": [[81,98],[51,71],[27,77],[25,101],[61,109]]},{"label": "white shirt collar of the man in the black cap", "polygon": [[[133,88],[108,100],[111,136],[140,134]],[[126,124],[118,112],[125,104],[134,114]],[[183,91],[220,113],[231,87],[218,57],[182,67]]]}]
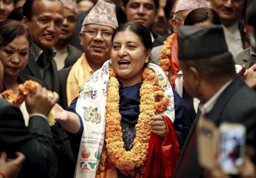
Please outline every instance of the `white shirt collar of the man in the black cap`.
[{"label": "white shirt collar of the man in the black cap", "polygon": [[201,111],[201,115],[205,116],[208,114],[216,103],[217,99],[220,97],[220,94],[228,87],[228,85],[232,82],[233,79],[229,80],[223,87],[221,87],[217,93],[215,93],[206,103],[200,104],[199,109]]}]

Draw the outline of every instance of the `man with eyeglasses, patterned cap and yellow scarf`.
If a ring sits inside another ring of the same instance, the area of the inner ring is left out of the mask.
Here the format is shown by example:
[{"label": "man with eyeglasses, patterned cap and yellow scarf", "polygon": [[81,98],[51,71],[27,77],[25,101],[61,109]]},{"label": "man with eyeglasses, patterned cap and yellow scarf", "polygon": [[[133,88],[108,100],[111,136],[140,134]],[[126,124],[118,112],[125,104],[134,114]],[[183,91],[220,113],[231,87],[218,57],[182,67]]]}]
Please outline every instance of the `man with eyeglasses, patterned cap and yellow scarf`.
[{"label": "man with eyeglasses, patterned cap and yellow scarf", "polygon": [[110,59],[111,36],[117,26],[115,6],[103,0],[85,17],[79,34],[84,53],[72,67],[59,72],[63,108],[70,106],[87,79]]}]

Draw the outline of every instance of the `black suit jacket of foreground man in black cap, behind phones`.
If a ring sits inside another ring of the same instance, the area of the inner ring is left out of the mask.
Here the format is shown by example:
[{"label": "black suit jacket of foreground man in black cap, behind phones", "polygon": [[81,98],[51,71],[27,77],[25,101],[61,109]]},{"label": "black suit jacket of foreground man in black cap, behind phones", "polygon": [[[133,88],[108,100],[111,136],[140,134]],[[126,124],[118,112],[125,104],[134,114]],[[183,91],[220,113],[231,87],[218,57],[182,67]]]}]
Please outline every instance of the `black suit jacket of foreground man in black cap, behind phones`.
[{"label": "black suit jacket of foreground man in black cap, behind phones", "polygon": [[[250,89],[240,76],[236,76],[228,87],[222,92],[211,111],[206,117],[213,120],[218,126],[222,122],[237,122],[246,127],[246,144],[256,148],[256,93]],[[197,122],[197,119],[195,120]],[[194,123],[184,149],[181,152],[174,177],[199,178],[201,167],[198,163],[198,153],[195,150],[186,149],[192,141],[192,134],[195,131]],[[191,159],[187,160],[186,153],[191,152]],[[193,176],[191,176],[193,175]]]}]

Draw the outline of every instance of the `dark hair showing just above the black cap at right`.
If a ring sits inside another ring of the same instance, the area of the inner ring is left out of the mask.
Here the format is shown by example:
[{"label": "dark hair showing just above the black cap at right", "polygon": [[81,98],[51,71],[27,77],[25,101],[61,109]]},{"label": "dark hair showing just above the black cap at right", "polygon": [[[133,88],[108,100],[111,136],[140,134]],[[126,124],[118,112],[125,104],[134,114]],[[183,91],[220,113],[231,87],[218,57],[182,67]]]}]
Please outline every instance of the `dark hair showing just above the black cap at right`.
[{"label": "dark hair showing just above the black cap at right", "polygon": [[186,16],[184,25],[194,25],[206,21],[211,21],[214,25],[221,24],[220,16],[212,8],[196,8]]}]

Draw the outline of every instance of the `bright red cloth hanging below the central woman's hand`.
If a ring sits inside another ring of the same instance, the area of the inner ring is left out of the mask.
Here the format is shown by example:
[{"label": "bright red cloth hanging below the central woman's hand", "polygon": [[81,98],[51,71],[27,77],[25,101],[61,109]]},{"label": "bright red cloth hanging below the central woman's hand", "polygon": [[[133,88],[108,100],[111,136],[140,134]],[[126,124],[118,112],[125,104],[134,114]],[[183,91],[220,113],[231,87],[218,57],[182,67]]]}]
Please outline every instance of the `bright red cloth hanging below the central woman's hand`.
[{"label": "bright red cloth hanging below the central woman's hand", "polygon": [[163,141],[161,136],[151,132],[145,178],[171,178],[181,152],[172,121],[167,116],[162,117],[167,133]]}]

